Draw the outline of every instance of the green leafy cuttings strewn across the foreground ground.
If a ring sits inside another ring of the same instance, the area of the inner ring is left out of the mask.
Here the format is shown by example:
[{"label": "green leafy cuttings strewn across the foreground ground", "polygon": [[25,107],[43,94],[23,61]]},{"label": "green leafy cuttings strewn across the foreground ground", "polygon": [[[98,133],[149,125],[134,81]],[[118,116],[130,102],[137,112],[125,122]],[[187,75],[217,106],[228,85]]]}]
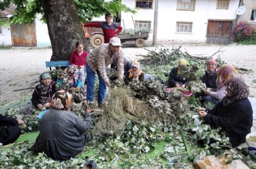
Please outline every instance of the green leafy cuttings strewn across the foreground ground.
[{"label": "green leafy cuttings strewn across the foreground ground", "polygon": [[[185,148],[180,130],[184,132],[190,151]],[[34,154],[34,141],[25,141],[0,148],[0,166],[79,168],[86,161],[94,159],[98,168],[186,168],[192,165],[197,155],[202,158],[209,154],[220,154],[223,152],[222,146],[229,146],[227,138],[220,135],[219,130],[204,124],[193,112],[182,115],[176,124],[167,123],[164,119],[154,124],[130,121],[120,134],[91,138],[83,152],[69,161],[60,163],[47,158],[45,154]],[[207,144],[210,138],[215,138],[217,142],[207,146],[197,144],[198,139]]]}]

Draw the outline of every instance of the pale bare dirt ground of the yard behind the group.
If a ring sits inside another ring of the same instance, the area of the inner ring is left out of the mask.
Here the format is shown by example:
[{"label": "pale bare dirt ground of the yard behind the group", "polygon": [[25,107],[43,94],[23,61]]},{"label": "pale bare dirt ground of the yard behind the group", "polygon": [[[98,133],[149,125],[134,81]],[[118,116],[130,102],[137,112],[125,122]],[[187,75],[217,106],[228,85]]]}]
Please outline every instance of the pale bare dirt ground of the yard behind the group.
[{"label": "pale bare dirt ground of the yard behind the group", "polygon": [[[251,72],[240,74],[250,86],[250,96],[256,97],[256,46],[255,45],[181,45],[161,44],[157,48],[178,48],[189,52],[191,55],[213,55],[220,48],[221,52],[214,55],[227,63],[239,68],[251,69]],[[156,47],[146,46],[148,49]],[[136,48],[134,45],[124,45],[124,55],[134,61],[139,54],[146,55],[144,48]],[[11,48],[0,50],[0,108],[3,105],[14,103],[21,98],[31,96],[34,86],[38,83],[39,75],[49,69],[45,67],[45,61],[50,61],[51,48]],[[25,89],[30,88],[30,89]],[[18,91],[17,91],[18,90]]]}]

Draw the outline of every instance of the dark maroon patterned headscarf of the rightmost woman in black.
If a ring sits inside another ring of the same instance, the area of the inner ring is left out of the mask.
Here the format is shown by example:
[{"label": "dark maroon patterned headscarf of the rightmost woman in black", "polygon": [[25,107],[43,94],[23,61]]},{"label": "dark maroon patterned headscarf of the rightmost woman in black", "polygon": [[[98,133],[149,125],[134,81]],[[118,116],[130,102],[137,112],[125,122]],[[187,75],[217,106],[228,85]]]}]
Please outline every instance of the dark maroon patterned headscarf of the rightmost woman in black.
[{"label": "dark maroon patterned headscarf of the rightmost woman in black", "polygon": [[224,106],[249,96],[249,88],[241,77],[232,77],[226,81],[225,86],[231,90],[231,96],[226,95],[222,99]]}]

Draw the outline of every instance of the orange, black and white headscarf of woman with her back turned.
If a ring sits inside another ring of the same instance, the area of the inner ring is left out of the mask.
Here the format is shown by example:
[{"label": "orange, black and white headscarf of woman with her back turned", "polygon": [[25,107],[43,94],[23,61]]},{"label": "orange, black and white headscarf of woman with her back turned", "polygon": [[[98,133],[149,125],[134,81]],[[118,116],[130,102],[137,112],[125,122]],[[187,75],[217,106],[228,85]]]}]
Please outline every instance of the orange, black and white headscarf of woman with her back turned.
[{"label": "orange, black and white headscarf of woman with her back turned", "polygon": [[60,90],[52,96],[51,108],[56,110],[69,110],[72,95],[65,90]]}]

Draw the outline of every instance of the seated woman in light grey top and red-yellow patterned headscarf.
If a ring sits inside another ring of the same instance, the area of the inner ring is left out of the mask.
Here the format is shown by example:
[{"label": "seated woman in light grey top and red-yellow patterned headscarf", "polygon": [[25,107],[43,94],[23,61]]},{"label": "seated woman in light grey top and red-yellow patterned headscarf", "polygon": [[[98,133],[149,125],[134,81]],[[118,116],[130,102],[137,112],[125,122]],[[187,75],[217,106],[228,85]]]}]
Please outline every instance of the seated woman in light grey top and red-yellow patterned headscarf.
[{"label": "seated woman in light grey top and red-yellow patterned headscarf", "polygon": [[219,70],[217,70],[217,79],[216,79],[216,92],[210,90],[204,90],[204,94],[207,95],[204,97],[204,102],[213,102],[218,103],[225,97],[227,94],[226,86],[224,83],[231,77],[237,76],[237,70],[232,65],[222,65]]}]

